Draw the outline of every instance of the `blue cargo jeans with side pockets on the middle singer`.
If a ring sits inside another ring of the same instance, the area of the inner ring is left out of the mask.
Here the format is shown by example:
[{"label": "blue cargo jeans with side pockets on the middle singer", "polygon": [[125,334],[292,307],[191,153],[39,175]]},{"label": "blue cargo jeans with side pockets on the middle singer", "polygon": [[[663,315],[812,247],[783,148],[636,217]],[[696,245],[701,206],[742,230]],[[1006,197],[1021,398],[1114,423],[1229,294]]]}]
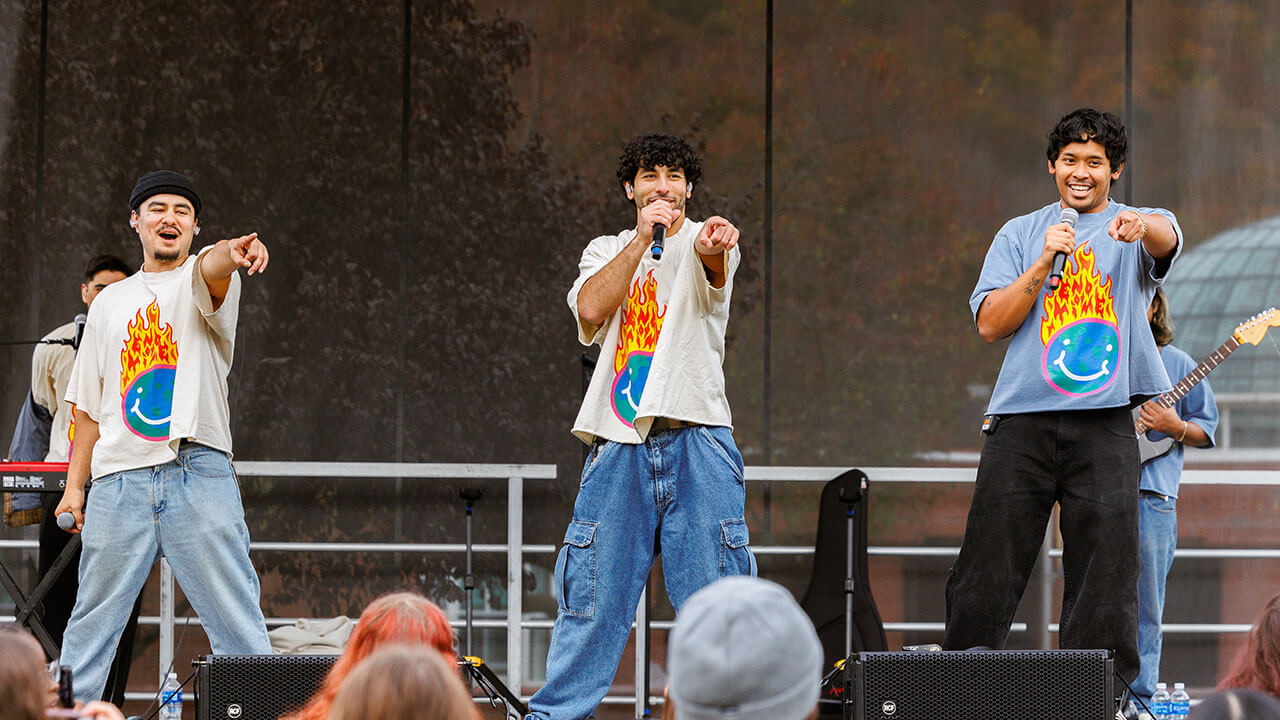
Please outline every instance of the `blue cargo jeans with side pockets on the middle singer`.
[{"label": "blue cargo jeans with side pockets on the middle singer", "polygon": [[755,575],[745,502],[742,456],[728,428],[660,430],[643,445],[596,443],[556,560],[559,612],[547,684],[529,701],[527,717],[593,715],[659,553],[677,612],[717,578]]}]

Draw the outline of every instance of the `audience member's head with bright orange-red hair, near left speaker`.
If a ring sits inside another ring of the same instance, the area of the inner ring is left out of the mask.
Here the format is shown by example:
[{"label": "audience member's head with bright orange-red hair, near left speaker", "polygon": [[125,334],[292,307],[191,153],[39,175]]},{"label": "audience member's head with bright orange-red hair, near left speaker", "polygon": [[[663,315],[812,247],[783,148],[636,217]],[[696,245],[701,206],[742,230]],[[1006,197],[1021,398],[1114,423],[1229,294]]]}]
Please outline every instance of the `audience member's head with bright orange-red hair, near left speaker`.
[{"label": "audience member's head with bright orange-red hair, near left speaker", "polygon": [[453,661],[453,628],[434,602],[411,592],[384,594],[369,603],[316,696],[291,720],[325,720],[338,688],[361,660],[388,643],[422,644]]}]

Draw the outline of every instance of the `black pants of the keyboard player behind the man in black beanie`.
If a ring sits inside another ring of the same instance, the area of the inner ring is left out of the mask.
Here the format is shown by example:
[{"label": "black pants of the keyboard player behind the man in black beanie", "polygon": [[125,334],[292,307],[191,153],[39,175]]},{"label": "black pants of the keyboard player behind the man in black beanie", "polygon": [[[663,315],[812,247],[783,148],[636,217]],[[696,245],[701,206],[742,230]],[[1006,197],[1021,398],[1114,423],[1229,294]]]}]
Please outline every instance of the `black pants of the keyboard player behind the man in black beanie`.
[{"label": "black pants of the keyboard player behind the man in black beanie", "polygon": [[[45,512],[40,520],[38,562],[41,578],[45,577],[49,568],[58,560],[58,555],[72,539],[70,533],[58,527],[58,516],[54,514],[61,497],[51,492],[45,493],[42,498]],[[63,646],[63,633],[67,630],[67,621],[72,618],[72,610],[76,609],[76,592],[78,589],[79,552],[67,564],[67,568],[63,568],[63,573],[45,593],[45,600],[41,603],[41,623],[58,647]],[[120,634],[120,643],[115,646],[115,661],[111,662],[111,673],[106,676],[106,689],[102,692],[102,700],[110,701],[116,707],[124,703],[124,687],[129,682],[129,665],[133,662],[133,638],[138,634],[140,610],[142,610],[142,593],[138,593],[138,598],[133,601],[133,612],[129,615],[129,623],[124,626],[124,633]],[[74,683],[76,679],[72,678],[72,682]]]}]

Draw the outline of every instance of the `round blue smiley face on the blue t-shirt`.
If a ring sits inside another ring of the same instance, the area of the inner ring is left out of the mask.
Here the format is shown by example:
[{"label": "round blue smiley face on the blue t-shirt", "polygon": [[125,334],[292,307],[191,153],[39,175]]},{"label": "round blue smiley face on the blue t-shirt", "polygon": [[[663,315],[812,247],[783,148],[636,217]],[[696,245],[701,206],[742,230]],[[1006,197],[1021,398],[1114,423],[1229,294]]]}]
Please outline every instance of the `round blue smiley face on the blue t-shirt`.
[{"label": "round blue smiley face on the blue t-shirt", "polygon": [[1076,320],[1044,348],[1044,379],[1064,395],[1092,395],[1111,384],[1120,361],[1120,334],[1106,320]]}]

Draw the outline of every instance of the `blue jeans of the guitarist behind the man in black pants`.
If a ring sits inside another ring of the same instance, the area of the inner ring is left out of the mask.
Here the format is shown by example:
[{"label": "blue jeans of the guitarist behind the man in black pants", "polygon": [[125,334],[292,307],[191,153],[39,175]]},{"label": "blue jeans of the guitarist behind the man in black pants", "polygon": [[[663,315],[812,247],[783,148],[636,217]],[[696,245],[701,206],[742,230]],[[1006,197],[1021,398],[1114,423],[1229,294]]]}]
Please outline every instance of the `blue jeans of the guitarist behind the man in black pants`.
[{"label": "blue jeans of the guitarist behind the man in black pants", "polygon": [[1178,546],[1178,498],[1142,493],[1138,546],[1142,551],[1142,575],[1138,578],[1138,656],[1142,665],[1133,689],[1149,706],[1160,682],[1160,624],[1165,615],[1165,579]]}]

